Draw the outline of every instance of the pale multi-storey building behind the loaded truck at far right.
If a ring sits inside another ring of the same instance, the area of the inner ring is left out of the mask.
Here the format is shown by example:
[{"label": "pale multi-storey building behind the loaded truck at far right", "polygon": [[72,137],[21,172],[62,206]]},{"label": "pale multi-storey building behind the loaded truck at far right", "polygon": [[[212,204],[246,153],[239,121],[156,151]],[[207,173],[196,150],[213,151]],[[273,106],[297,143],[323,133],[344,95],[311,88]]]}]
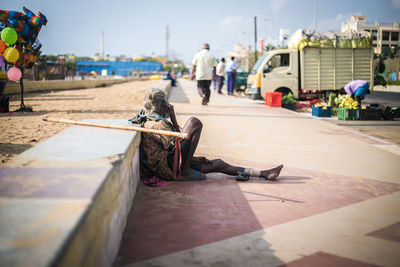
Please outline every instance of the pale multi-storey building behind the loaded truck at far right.
[{"label": "pale multi-storey building behind the loaded truck at far right", "polygon": [[372,35],[374,52],[380,54],[382,48],[398,48],[400,46],[400,24],[394,23],[367,23],[365,16],[351,16],[347,23],[342,24],[342,32],[367,31]]}]

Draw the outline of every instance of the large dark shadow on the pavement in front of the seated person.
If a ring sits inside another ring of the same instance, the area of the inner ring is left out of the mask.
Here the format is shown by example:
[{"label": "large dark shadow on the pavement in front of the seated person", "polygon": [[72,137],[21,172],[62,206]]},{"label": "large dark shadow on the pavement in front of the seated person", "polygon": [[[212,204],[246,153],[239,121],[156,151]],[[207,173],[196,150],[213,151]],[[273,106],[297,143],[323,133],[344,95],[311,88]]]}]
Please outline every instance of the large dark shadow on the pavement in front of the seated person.
[{"label": "large dark shadow on the pavement in front of the seated person", "polygon": [[[141,185],[116,266],[229,266],[238,258],[227,258],[228,252],[241,255],[246,264],[256,251],[261,263],[268,255],[274,265],[282,264],[262,229],[239,184],[230,178],[168,182],[161,188]],[[258,235],[256,245],[254,236],[246,237],[249,233]]]}]

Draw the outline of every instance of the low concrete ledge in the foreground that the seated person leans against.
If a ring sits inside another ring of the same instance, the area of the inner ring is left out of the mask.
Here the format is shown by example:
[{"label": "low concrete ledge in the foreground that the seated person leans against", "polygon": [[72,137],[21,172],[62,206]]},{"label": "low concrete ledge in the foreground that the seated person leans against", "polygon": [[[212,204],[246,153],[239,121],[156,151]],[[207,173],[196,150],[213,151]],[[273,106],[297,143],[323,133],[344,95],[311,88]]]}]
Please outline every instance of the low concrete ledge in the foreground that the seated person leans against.
[{"label": "low concrete ledge in the foreground that the seated person leans against", "polygon": [[136,132],[73,126],[0,168],[1,265],[111,266],[140,180],[139,143]]}]

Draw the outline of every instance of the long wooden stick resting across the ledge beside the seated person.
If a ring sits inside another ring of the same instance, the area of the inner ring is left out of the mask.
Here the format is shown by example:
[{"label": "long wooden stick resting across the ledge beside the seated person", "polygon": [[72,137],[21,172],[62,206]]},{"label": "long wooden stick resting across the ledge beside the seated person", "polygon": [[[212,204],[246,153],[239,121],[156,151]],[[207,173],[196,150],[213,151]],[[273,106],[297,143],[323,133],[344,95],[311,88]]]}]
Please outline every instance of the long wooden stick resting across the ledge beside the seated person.
[{"label": "long wooden stick resting across the ledge beside the seated person", "polygon": [[184,138],[184,139],[189,139],[188,133],[155,130],[155,129],[149,129],[149,128],[143,128],[143,127],[133,127],[133,126],[131,127],[131,126],[111,125],[111,124],[86,122],[86,121],[74,121],[74,120],[67,120],[67,119],[51,118],[51,117],[47,117],[47,116],[43,117],[43,120],[47,121],[47,122],[58,122],[58,123],[65,123],[65,124],[93,126],[93,127],[110,128],[110,129],[117,129],[117,130],[129,130],[129,131],[137,131],[137,132],[145,132],[145,133],[155,133],[155,134],[176,136],[176,137],[180,137],[180,138]]}]

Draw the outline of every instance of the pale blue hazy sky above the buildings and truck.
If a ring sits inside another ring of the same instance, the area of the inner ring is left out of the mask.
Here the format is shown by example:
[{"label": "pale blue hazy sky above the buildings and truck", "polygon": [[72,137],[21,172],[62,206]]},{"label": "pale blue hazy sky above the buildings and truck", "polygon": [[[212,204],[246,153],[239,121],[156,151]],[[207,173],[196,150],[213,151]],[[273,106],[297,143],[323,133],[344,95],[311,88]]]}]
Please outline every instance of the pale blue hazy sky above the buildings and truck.
[{"label": "pale blue hazy sky above the buildings and truck", "polygon": [[[277,43],[280,29],[340,31],[351,15],[367,23],[400,23],[400,0],[1,0],[0,9],[42,12],[48,20],[39,33],[42,54],[164,56],[168,25],[170,53],[190,64],[203,43],[217,57],[235,44],[254,46],[258,38]],[[275,40],[275,41],[274,41]]]}]

